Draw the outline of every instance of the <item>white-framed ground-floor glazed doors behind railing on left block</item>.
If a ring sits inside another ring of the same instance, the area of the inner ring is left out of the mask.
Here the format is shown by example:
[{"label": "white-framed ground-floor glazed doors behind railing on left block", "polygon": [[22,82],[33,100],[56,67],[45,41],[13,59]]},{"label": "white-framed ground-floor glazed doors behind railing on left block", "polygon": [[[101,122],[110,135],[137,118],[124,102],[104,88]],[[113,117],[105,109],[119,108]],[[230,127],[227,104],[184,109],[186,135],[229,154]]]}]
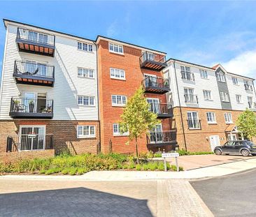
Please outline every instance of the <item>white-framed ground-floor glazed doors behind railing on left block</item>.
[{"label": "white-framed ground-floor glazed doors behind railing on left block", "polygon": [[45,149],[45,126],[20,126],[19,151]]}]

